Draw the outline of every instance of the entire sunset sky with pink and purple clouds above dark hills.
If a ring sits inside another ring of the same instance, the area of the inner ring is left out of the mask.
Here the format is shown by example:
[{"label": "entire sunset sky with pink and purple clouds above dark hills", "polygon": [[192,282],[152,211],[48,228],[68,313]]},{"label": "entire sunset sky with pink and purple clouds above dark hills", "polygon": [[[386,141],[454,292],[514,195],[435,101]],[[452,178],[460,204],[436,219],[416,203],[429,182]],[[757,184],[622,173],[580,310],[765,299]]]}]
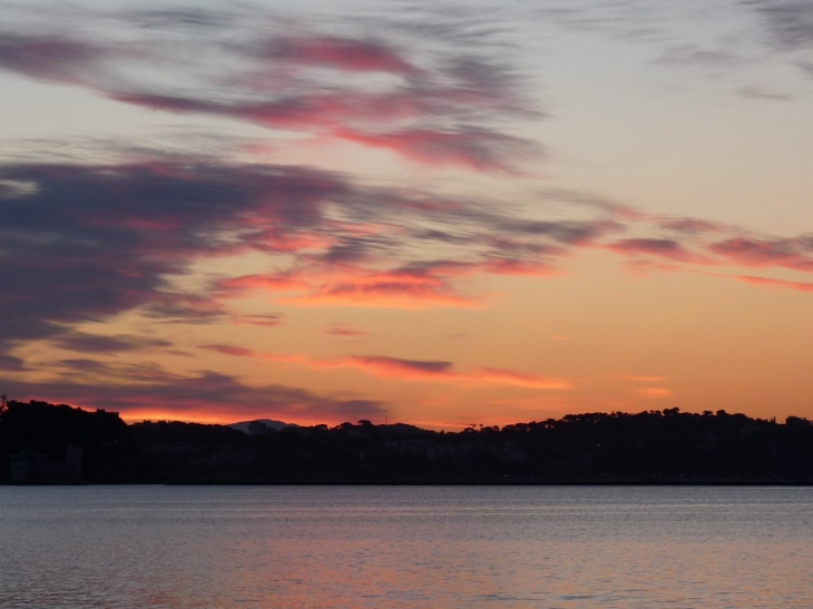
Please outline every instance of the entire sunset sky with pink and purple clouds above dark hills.
[{"label": "entire sunset sky with pink and purple clouds above dark hills", "polygon": [[9,399],[813,418],[807,0],[0,0],[0,91]]}]

